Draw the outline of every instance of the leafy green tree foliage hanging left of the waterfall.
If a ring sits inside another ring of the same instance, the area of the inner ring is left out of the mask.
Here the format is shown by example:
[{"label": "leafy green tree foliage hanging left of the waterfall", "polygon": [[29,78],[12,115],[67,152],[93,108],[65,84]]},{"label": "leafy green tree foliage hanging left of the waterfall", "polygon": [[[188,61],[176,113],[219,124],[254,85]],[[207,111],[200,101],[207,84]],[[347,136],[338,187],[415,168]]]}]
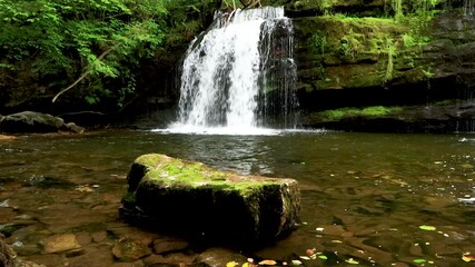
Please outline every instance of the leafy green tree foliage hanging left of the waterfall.
[{"label": "leafy green tree foliage hanging left of the waterfall", "polygon": [[[0,79],[90,103],[133,97],[139,62],[201,28],[198,0],[0,0]],[[0,80],[2,83],[2,80]],[[24,82],[27,83],[27,82]],[[77,92],[78,92],[77,91]]]}]

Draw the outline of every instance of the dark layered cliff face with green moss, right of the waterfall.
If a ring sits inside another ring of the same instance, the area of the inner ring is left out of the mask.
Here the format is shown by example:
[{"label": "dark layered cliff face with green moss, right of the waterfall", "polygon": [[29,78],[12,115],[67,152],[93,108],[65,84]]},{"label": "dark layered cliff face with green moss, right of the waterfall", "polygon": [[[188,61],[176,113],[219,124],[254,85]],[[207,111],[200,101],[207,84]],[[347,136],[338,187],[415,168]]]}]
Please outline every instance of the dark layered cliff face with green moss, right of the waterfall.
[{"label": "dark layered cliff face with green moss, right of the waterfall", "polygon": [[[295,26],[303,123],[368,131],[473,130],[455,127],[472,125],[473,118],[471,7],[463,2],[420,7],[406,1],[409,4],[397,11],[388,2],[286,6]],[[380,106],[397,108],[362,112]],[[329,116],[334,111],[339,116]]]}]

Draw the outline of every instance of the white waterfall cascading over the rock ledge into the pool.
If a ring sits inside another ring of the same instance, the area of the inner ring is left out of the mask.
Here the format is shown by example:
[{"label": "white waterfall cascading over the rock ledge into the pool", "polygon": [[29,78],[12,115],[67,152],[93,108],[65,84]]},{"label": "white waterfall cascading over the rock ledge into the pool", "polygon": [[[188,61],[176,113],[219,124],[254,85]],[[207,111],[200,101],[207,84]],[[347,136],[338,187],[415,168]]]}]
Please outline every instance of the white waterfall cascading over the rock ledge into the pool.
[{"label": "white waterfall cascading over the rock ledge into the pool", "polygon": [[217,12],[189,46],[171,127],[295,128],[293,24],[283,8]]}]

